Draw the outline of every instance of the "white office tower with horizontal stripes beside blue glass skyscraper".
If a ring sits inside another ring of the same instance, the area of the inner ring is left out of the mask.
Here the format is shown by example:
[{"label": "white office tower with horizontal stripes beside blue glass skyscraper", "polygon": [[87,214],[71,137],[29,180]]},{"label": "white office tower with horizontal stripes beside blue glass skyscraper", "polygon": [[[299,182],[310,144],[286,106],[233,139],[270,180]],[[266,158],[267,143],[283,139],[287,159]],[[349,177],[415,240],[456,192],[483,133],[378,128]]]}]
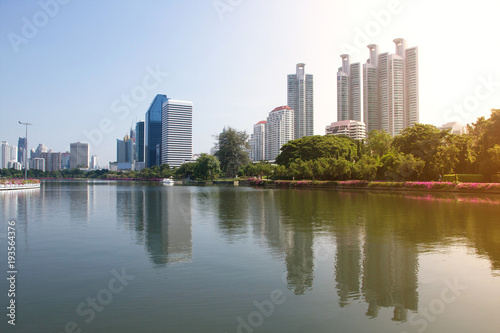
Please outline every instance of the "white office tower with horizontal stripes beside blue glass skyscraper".
[{"label": "white office tower with horizontal stripes beside blue glass skyscraper", "polygon": [[180,166],[193,158],[193,102],[168,98],[161,114],[161,163]]}]

